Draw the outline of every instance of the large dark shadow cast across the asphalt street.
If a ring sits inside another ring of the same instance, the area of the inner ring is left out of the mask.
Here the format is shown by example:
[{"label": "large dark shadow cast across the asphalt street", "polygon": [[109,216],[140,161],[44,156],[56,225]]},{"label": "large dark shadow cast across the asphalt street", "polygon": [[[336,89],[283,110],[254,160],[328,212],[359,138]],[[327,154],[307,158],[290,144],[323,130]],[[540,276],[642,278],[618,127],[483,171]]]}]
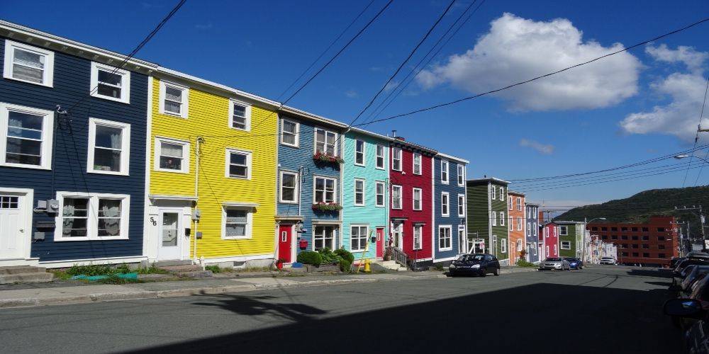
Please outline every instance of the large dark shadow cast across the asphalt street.
[{"label": "large dark shadow cast across the asphalt street", "polygon": [[[661,313],[665,299],[664,290],[537,283],[328,317],[316,309],[317,297],[294,305],[224,295],[203,304],[245,315],[274,313],[293,323],[136,353],[676,353],[680,333]],[[342,306],[350,304],[343,299]]]}]

